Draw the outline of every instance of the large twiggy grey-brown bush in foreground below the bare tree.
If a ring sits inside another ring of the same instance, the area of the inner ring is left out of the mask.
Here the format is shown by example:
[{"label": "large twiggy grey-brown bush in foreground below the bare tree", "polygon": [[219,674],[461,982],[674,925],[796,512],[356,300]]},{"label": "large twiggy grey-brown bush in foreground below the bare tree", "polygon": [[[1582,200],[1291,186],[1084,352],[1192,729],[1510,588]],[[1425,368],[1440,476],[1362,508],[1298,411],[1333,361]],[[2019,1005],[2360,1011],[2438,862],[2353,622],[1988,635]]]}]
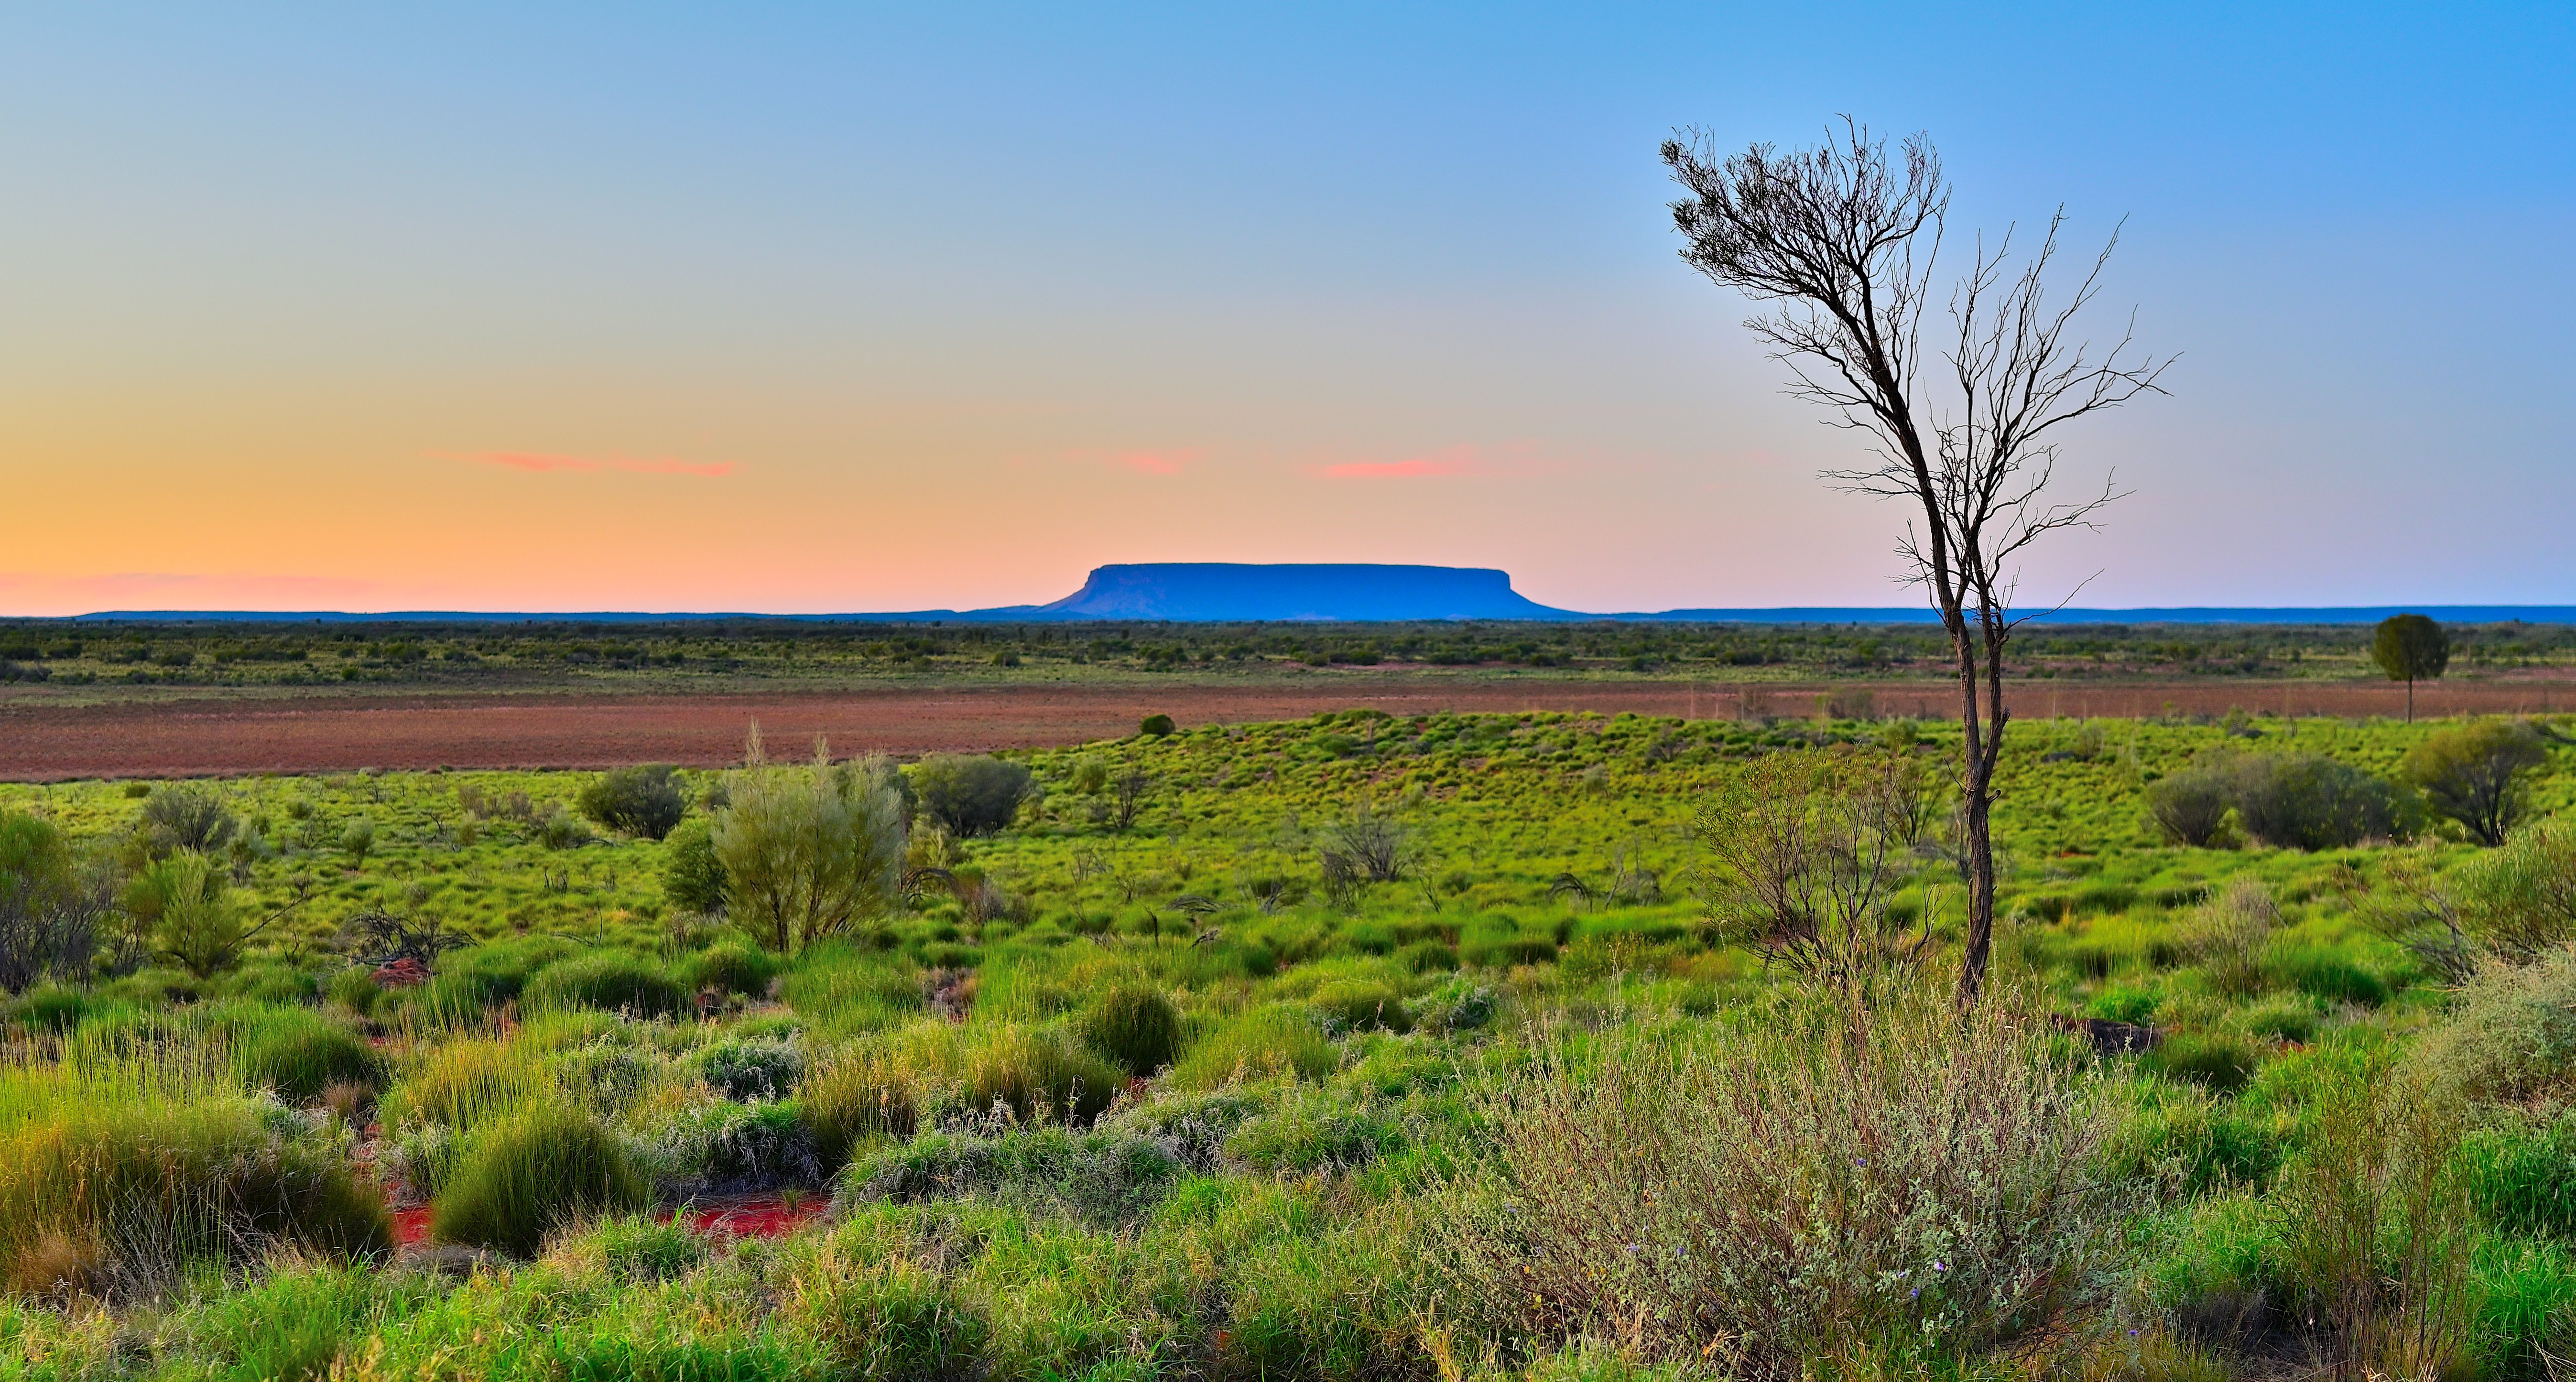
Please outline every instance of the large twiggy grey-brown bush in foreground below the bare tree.
[{"label": "large twiggy grey-brown bush in foreground below the bare tree", "polygon": [[1561,1040],[1479,1096],[1492,1161],[1435,1199],[1435,1274],[1515,1338],[1803,1377],[1973,1354],[2084,1297],[2120,1204],[2076,1068],[1989,1001]]}]

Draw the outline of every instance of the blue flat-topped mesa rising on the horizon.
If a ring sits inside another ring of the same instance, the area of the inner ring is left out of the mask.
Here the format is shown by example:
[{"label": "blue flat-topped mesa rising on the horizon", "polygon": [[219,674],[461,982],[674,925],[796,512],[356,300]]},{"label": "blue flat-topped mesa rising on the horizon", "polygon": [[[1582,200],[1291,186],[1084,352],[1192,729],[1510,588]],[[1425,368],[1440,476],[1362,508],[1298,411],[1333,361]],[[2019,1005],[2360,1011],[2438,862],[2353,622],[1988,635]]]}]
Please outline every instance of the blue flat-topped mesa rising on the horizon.
[{"label": "blue flat-topped mesa rising on the horizon", "polygon": [[1564,620],[1484,566],[1144,561],[1095,566],[1038,618],[1092,620]]}]

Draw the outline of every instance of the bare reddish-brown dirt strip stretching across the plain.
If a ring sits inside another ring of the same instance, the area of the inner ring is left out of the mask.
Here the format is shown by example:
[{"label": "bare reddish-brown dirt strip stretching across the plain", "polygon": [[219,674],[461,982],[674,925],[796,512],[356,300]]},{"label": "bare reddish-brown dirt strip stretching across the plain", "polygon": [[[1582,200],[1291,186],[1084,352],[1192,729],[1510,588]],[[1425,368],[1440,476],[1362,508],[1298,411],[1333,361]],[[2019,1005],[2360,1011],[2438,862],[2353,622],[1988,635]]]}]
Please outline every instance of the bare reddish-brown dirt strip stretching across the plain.
[{"label": "bare reddish-brown dirt strip stretching across the plain", "polygon": [[[1595,710],[1734,718],[1814,715],[1824,685],[1476,679],[1404,672],[1319,674],[1298,682],[1157,685],[884,685],[778,695],[301,695],[165,703],[0,703],[0,780],[216,777],[245,772],[348,772],[358,767],[616,767],[737,762],[760,721],[773,751],[796,754],[817,733],[837,754],[896,757],[943,749],[1030,749],[1133,733],[1167,713],[1203,723],[1291,721],[1316,710]],[[1942,682],[1839,682],[1868,690],[1880,715],[1942,715]],[[2014,713],[2159,715],[2295,713],[2398,715],[2406,690],[2388,682],[2022,682]],[[2424,685],[2419,715],[2576,710],[2576,682],[2483,679]]]}]

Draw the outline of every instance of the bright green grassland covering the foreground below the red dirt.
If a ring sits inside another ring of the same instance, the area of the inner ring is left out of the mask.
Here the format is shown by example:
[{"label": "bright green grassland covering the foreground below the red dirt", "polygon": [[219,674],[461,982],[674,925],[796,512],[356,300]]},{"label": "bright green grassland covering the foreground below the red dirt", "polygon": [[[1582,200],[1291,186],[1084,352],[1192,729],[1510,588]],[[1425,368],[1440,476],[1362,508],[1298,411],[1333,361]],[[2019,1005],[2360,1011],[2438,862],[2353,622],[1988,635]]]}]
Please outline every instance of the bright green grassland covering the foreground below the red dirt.
[{"label": "bright green grassland covering the foreground below the red dirt", "polygon": [[[1772,754],[1937,780],[1932,721],[1352,710],[1005,754],[1038,785],[1007,829],[917,831],[938,883],[796,955],[675,906],[675,847],[572,811],[592,775],[0,785],[129,872],[155,793],[214,790],[211,860],[276,916],[219,973],[5,1009],[0,1377],[2550,1377],[2576,960],[2463,978],[2421,924],[2506,854],[2421,811],[2192,849],[2146,808],[2226,751],[2396,780],[2445,728],[2014,723],[1971,1022],[1937,829],[1888,901],[1929,999],[1868,1019],[1713,914],[1692,834]],[[2527,829],[2576,821],[2545,744]],[[1319,867],[1355,829],[1394,878]],[[371,919],[464,944],[384,988]],[[2159,1045],[2053,1024],[2087,1017]],[[381,1192],[477,1253],[394,1253]],[[1638,1207],[1682,1192],[1752,1217]],[[662,1220],[726,1194],[829,1212]],[[1775,1220],[1808,1230],[1759,1256]]]}]

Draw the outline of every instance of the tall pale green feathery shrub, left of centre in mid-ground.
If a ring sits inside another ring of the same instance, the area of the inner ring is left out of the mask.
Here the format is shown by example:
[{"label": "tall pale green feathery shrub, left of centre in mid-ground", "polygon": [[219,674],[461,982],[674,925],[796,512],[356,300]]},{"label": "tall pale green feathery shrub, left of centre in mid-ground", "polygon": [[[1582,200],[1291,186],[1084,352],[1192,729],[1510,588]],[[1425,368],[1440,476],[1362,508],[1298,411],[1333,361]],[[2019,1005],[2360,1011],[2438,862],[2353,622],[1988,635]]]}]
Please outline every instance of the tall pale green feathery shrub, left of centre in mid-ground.
[{"label": "tall pale green feathery shrub, left of centre in mid-ground", "polygon": [[760,762],[726,775],[716,813],[726,914],[760,944],[791,955],[894,906],[904,867],[904,806],[878,759],[809,767]]}]

